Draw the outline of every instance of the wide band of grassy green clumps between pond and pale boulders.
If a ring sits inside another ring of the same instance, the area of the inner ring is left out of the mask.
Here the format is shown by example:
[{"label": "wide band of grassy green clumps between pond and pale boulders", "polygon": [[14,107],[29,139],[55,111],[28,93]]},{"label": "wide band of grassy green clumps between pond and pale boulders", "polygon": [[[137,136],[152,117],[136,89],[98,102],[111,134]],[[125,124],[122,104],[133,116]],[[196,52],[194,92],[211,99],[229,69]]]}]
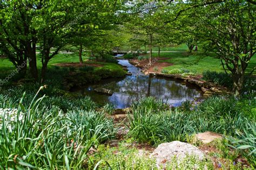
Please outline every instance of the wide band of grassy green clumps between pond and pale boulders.
[{"label": "wide band of grassy green clumps between pond and pale boulders", "polygon": [[232,97],[211,97],[195,107],[184,102],[180,109],[171,111],[150,97],[132,105],[128,136],[155,145],[186,141],[186,134],[205,131],[235,136],[234,129],[243,131],[248,122],[247,111],[238,103]]}]

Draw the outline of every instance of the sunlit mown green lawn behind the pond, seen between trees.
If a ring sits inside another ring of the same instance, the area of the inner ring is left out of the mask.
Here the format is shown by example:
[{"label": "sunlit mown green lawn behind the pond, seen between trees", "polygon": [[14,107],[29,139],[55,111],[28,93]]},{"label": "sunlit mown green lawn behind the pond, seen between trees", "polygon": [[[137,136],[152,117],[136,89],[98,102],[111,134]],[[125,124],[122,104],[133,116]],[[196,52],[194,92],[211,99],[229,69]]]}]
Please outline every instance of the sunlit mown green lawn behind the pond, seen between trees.
[{"label": "sunlit mown green lawn behind the pond, seen between trees", "polygon": [[[182,46],[179,48],[181,49]],[[149,55],[149,54],[147,54]],[[153,57],[156,57],[158,54],[153,53]],[[162,58],[170,58],[167,60],[159,60],[160,62],[170,62],[173,63],[173,66],[166,67],[165,69],[171,70],[174,68],[186,68],[189,70],[195,70],[197,73],[201,74],[205,70],[224,72],[220,61],[214,56],[201,56],[201,55],[190,55],[187,53],[161,53],[160,56]],[[83,56],[83,60],[86,61],[89,57],[86,54]],[[56,63],[64,63],[64,62],[79,62],[77,54],[57,54],[49,61],[48,67],[51,68]],[[92,63],[92,61],[87,61]],[[104,67],[109,69],[120,68],[119,65],[115,63],[106,63],[106,62],[94,62],[104,65]],[[41,59],[37,60],[38,69],[41,69],[42,63]],[[256,55],[254,55],[246,69],[246,73],[251,72],[252,68],[256,66]],[[0,73],[8,73],[11,70],[14,70],[15,67],[8,59],[0,59]],[[254,75],[256,71],[254,70]]]}]

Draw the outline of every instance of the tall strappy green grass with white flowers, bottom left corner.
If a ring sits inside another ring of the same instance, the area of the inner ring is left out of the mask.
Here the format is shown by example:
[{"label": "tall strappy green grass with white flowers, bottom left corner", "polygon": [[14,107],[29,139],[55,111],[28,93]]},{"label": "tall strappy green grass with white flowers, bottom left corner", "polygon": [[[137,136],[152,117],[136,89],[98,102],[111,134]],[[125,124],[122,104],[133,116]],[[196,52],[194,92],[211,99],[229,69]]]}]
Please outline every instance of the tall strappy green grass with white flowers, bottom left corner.
[{"label": "tall strappy green grass with white flowers, bottom left corner", "polygon": [[1,115],[1,169],[85,168],[89,149],[113,136],[112,120],[93,110],[64,113],[57,106],[42,106],[46,98],[37,95],[28,106],[23,95],[15,121],[7,112]]}]

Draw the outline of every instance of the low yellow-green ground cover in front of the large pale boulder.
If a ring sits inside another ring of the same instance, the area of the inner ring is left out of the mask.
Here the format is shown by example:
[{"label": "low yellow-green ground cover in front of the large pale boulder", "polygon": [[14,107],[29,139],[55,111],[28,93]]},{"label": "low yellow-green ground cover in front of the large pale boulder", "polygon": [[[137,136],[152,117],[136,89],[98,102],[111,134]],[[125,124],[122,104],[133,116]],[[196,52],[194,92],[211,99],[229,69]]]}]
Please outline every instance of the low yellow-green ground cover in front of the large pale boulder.
[{"label": "low yellow-green ground cover in front of the large pale boulder", "polygon": [[[118,147],[100,145],[98,152],[93,155],[88,165],[92,169],[97,165],[99,169],[163,169],[163,165],[156,165],[156,160],[148,155],[147,151],[139,152],[129,141],[122,141]],[[170,162],[166,162],[165,169],[212,169],[211,161],[199,161],[197,157],[189,156],[178,161],[173,157]]]}]

